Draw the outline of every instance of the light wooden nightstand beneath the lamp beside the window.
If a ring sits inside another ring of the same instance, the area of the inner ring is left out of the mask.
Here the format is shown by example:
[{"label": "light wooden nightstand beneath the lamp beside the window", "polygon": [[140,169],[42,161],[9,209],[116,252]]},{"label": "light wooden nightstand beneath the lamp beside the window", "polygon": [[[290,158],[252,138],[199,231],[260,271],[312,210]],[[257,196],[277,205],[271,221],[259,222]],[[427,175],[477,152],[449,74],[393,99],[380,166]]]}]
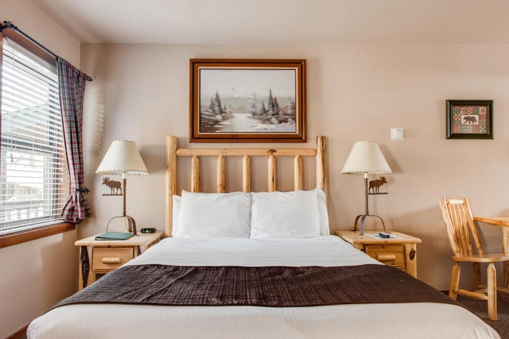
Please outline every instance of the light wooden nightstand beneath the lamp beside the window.
[{"label": "light wooden nightstand beneath the lamp beside the window", "polygon": [[76,241],[79,251],[78,290],[92,284],[145,252],[162,238],[162,232],[140,234],[127,240],[96,240],[95,235]]}]

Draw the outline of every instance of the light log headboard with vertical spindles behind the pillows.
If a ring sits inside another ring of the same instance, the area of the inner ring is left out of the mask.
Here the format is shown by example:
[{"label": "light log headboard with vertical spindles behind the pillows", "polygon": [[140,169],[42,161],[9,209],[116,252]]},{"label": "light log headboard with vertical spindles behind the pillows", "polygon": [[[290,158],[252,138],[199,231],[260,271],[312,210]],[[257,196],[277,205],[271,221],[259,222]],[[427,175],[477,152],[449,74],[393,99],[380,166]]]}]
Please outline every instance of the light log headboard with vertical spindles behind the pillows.
[{"label": "light log headboard with vertical spindles behind the pillows", "polygon": [[317,187],[327,196],[326,137],[316,138],[316,148],[177,148],[177,137],[166,137],[165,236],[172,236],[173,195],[177,194],[177,157],[191,157],[191,192],[200,190],[200,157],[217,157],[216,191],[225,193],[224,157],[243,157],[242,191],[251,191],[250,157],[268,157],[267,192],[276,190],[276,157],[295,157],[294,190],[302,190],[302,157],[316,158]]}]

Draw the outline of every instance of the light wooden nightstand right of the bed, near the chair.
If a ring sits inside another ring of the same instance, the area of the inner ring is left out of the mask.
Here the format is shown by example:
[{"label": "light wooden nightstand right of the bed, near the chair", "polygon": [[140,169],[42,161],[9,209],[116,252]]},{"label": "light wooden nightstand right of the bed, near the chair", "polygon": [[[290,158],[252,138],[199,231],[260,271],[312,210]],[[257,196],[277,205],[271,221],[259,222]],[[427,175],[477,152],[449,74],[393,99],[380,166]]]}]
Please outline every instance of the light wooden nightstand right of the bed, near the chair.
[{"label": "light wooden nightstand right of the bed, near the chair", "polygon": [[420,239],[394,231],[387,232],[399,238],[379,239],[367,235],[378,234],[378,232],[383,231],[365,231],[364,235],[354,231],[335,231],[334,234],[373,259],[401,269],[417,278],[416,244],[421,243]]}]

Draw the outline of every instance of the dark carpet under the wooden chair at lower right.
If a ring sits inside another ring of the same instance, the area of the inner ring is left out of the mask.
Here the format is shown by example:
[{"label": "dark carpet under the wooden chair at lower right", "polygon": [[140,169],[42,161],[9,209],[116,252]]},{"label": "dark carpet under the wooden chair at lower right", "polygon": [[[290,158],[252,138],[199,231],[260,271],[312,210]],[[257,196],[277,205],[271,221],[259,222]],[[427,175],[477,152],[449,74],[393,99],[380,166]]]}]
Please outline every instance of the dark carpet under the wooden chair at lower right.
[{"label": "dark carpet under the wooden chair at lower right", "polygon": [[461,295],[458,296],[458,301],[464,304],[470,312],[493,327],[493,329],[500,334],[502,339],[509,339],[509,294],[498,293],[497,295],[497,321],[488,319],[488,302],[463,297]]}]

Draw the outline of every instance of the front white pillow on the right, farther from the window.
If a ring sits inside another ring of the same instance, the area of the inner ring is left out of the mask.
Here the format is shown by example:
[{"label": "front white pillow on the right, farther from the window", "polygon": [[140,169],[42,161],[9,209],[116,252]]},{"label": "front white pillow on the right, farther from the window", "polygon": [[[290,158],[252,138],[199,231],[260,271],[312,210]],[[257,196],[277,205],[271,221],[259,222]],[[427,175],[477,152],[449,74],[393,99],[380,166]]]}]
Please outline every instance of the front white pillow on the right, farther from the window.
[{"label": "front white pillow on the right, farther from the window", "polygon": [[251,193],[250,238],[320,236],[317,192]]}]

